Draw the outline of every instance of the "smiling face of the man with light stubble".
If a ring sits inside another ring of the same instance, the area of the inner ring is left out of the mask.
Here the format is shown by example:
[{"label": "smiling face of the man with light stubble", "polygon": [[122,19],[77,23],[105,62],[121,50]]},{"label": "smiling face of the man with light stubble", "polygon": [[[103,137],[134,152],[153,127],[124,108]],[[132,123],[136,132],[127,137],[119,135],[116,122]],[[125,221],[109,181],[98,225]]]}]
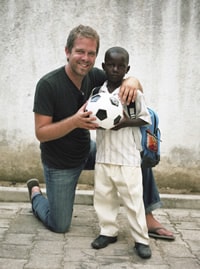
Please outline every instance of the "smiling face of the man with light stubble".
[{"label": "smiling face of the man with light stubble", "polygon": [[74,75],[84,77],[92,69],[97,56],[96,49],[96,40],[86,37],[78,37],[71,52],[65,49],[69,67]]}]

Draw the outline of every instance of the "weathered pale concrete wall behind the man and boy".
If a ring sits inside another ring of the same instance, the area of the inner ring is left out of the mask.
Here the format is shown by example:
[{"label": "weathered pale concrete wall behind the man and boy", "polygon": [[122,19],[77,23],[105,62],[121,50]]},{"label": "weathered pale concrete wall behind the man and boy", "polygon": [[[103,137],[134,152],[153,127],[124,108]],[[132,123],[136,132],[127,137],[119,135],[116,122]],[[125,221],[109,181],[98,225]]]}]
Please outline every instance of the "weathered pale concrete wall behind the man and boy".
[{"label": "weathered pale concrete wall behind the man and boy", "polygon": [[0,0],[0,180],[42,178],[35,85],[65,64],[67,35],[80,23],[100,34],[96,66],[110,46],[130,52],[129,74],[160,116],[158,182],[200,189],[199,0]]}]

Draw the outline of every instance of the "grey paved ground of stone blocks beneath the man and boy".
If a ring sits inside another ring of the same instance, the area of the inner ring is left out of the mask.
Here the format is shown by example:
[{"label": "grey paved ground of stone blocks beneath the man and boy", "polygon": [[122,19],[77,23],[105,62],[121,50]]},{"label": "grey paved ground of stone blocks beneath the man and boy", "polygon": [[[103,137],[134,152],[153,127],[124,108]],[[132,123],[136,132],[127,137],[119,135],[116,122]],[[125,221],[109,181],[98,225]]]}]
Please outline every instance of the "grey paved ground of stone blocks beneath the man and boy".
[{"label": "grey paved ground of stone blocks beneath the man and boy", "polygon": [[1,269],[197,269],[200,268],[200,210],[159,209],[157,218],[173,230],[176,240],[150,240],[152,258],[140,259],[133,250],[124,208],[118,222],[119,240],[105,249],[93,250],[98,235],[91,205],[74,207],[69,233],[48,231],[31,212],[27,202],[0,203]]}]

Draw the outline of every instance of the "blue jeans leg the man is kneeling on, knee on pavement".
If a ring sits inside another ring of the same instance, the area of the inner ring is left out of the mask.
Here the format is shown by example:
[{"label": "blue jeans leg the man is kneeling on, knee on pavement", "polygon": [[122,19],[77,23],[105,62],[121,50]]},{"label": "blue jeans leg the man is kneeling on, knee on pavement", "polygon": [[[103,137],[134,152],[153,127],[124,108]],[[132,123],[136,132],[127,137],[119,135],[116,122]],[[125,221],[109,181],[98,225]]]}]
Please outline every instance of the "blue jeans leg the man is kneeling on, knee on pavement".
[{"label": "blue jeans leg the man is kneeling on, knee on pavement", "polygon": [[55,169],[43,164],[47,197],[35,193],[32,209],[50,230],[65,233],[72,220],[76,185],[84,164],[72,169]]}]

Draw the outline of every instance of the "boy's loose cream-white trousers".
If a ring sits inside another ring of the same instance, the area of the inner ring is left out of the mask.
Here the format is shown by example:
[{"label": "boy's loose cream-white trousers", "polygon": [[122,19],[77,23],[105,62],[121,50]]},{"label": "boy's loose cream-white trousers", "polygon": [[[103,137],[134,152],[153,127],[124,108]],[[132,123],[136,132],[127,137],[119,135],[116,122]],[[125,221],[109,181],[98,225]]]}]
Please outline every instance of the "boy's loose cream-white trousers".
[{"label": "boy's loose cream-white trousers", "polygon": [[118,234],[116,221],[120,208],[118,194],[126,208],[134,241],[148,245],[141,168],[96,163],[94,208],[99,219],[101,235]]}]

